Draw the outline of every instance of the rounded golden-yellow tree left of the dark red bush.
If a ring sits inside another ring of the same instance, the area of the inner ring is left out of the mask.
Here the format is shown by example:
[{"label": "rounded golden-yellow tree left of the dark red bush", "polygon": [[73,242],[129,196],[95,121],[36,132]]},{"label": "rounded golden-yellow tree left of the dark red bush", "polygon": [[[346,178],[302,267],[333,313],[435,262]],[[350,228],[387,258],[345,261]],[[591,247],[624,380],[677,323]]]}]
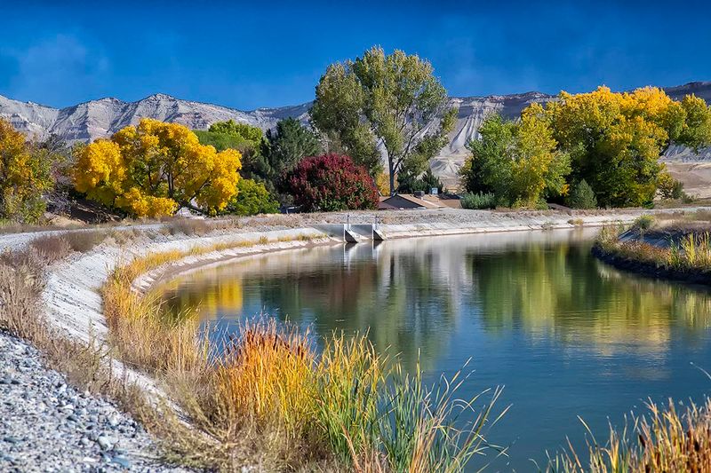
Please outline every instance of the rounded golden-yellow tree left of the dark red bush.
[{"label": "rounded golden-yellow tree left of the dark red bush", "polygon": [[188,128],[148,118],[79,150],[76,190],[134,217],[180,206],[214,214],[236,196],[242,167],[234,149],[218,153]]}]

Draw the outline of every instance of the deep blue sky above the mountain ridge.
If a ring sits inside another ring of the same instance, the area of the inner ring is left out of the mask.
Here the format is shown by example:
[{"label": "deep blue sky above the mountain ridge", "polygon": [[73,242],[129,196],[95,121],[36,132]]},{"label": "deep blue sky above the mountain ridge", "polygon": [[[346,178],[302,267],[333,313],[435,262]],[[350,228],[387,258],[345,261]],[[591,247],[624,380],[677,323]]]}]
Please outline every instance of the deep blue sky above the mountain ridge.
[{"label": "deep blue sky above the mountain ridge", "polygon": [[373,44],[429,59],[453,96],[711,80],[708,2],[0,0],[0,18],[0,94],[50,106],[299,104]]}]

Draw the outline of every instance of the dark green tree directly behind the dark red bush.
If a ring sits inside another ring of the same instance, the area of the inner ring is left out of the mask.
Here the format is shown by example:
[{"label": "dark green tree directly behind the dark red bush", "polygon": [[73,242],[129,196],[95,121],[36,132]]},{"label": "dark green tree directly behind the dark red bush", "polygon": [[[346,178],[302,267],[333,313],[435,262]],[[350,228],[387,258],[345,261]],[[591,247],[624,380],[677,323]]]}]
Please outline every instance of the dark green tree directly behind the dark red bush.
[{"label": "dark green tree directly behind the dark red bush", "polygon": [[276,123],[276,129],[267,130],[268,162],[276,176],[289,172],[301,159],[323,152],[318,135],[295,118]]}]

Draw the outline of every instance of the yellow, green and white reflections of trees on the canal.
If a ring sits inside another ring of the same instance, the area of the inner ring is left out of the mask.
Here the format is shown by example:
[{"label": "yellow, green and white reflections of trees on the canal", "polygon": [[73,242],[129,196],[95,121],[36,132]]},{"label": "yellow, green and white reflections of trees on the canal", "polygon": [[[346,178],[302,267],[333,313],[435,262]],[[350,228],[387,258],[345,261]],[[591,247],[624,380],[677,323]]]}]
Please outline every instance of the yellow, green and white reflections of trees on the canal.
[{"label": "yellow, green and white reflections of trees on the canal", "polygon": [[[711,327],[700,288],[612,270],[589,254],[594,233],[533,232],[392,240],[256,256],[186,275],[166,307],[198,307],[220,328],[260,313],[317,335],[368,332],[379,350],[426,369],[446,356],[459,318],[493,336],[523,331],[601,353],[664,351],[673,326],[693,343]],[[420,353],[420,355],[419,355]],[[472,355],[475,355],[474,353]]]}]

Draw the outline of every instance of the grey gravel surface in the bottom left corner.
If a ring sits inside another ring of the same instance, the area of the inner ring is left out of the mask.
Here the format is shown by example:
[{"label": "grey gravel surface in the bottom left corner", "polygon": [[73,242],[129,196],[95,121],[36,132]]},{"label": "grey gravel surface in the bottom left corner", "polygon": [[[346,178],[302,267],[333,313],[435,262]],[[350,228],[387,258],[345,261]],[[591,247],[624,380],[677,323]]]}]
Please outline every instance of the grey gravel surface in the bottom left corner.
[{"label": "grey gravel surface in the bottom left corner", "polygon": [[156,463],[155,452],[130,416],[0,333],[0,471],[185,471]]}]

